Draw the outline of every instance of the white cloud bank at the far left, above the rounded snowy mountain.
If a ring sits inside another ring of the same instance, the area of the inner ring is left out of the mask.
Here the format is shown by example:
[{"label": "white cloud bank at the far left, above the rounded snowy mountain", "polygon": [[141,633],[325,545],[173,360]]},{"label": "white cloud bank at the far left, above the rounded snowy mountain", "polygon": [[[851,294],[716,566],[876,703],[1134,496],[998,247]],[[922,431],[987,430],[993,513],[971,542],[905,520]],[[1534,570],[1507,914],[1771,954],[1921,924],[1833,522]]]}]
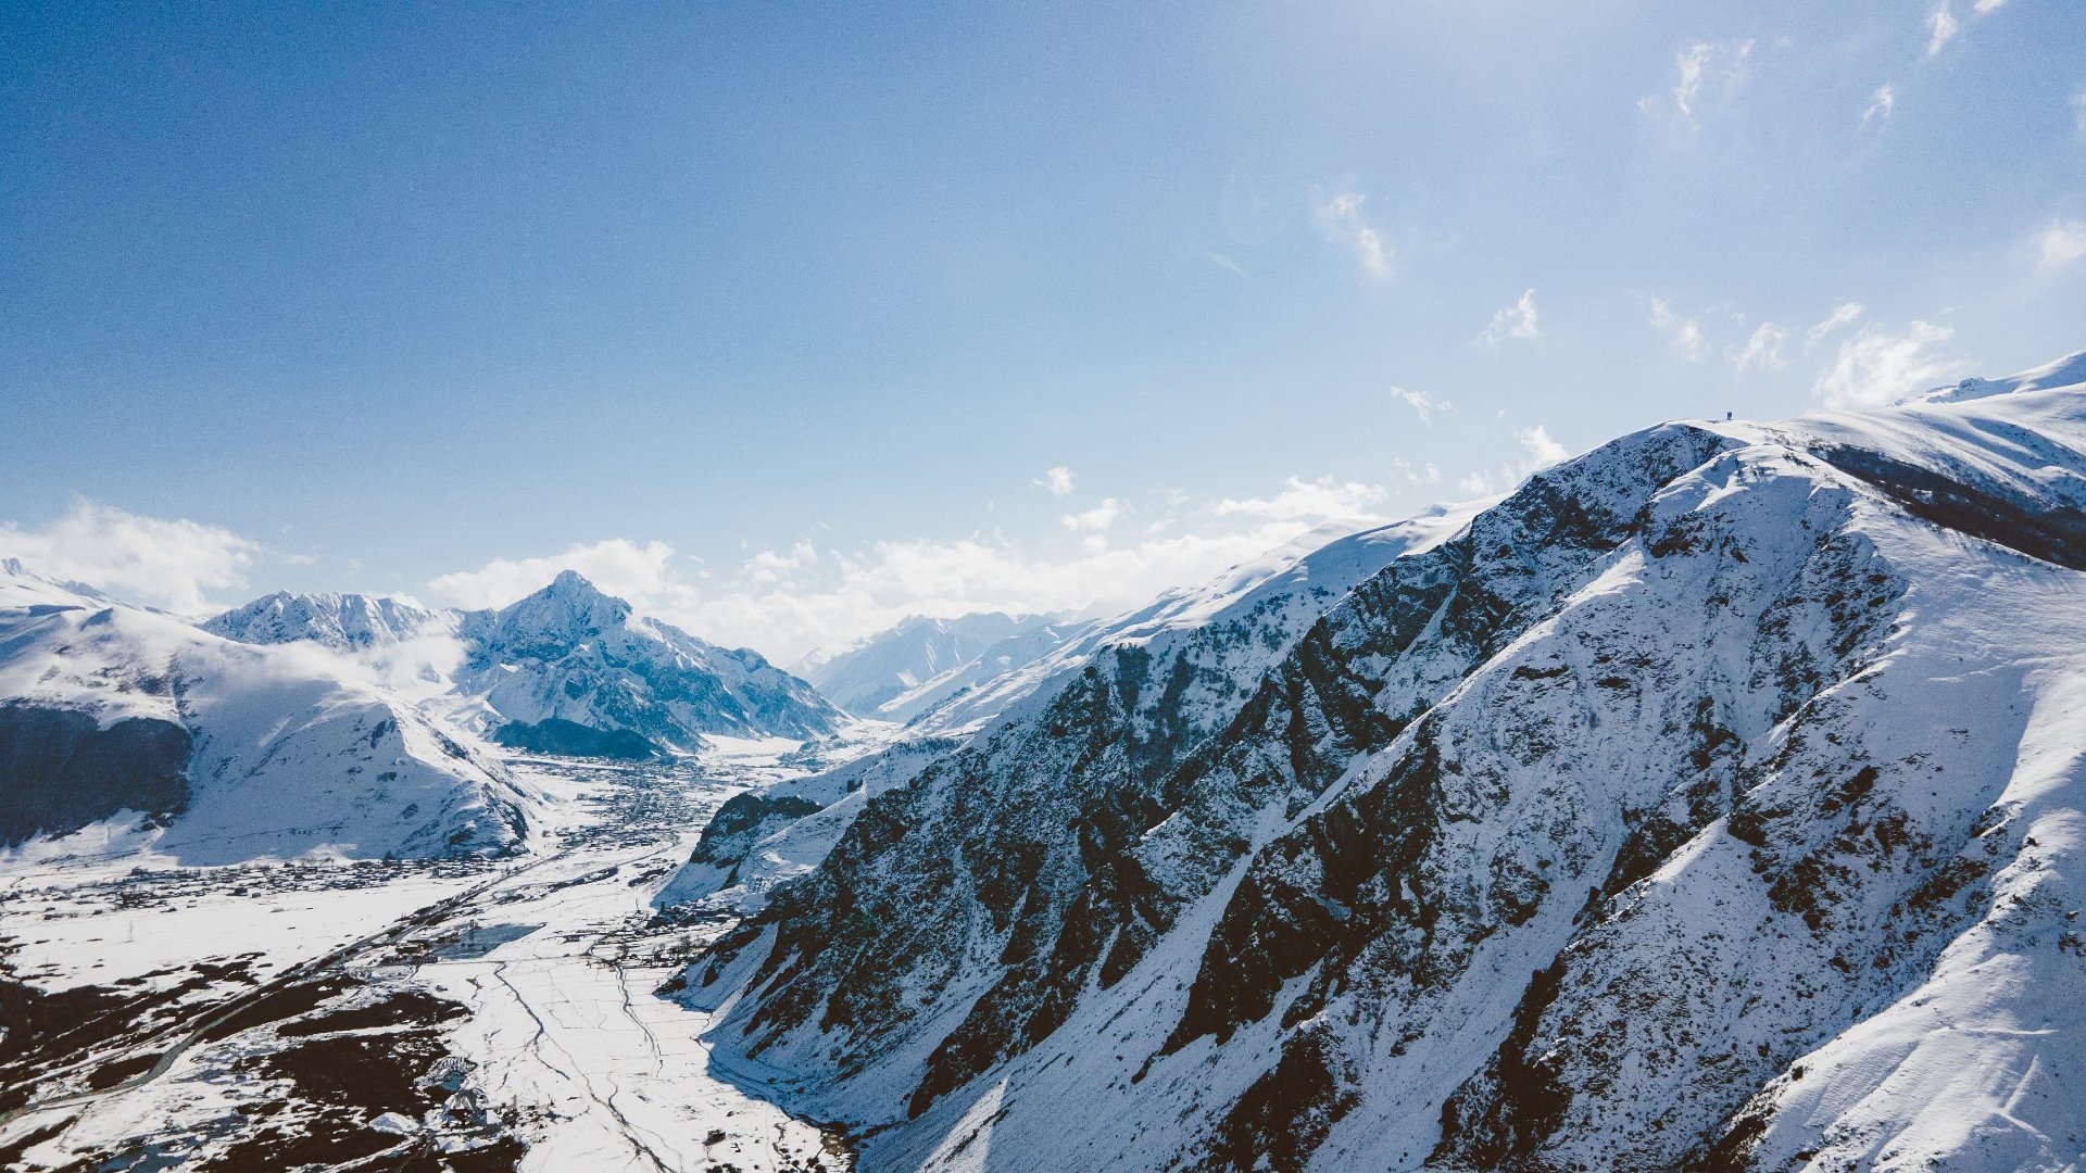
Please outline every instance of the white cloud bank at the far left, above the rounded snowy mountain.
[{"label": "white cloud bank at the far left, above the rounded snowy mountain", "polygon": [[259,553],[261,543],[221,526],[142,518],[94,501],[73,501],[40,530],[0,522],[0,557],[19,557],[46,578],[79,580],[184,614],[227,603],[211,599],[213,591],[244,591],[246,568]]}]

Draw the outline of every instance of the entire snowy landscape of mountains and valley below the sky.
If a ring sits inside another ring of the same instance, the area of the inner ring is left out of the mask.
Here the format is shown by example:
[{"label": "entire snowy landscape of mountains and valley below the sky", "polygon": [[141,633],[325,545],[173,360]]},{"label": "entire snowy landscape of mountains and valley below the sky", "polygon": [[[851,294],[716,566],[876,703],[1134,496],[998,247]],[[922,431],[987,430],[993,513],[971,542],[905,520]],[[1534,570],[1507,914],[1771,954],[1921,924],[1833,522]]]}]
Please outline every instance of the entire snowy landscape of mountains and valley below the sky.
[{"label": "entire snowy landscape of mountains and valley below the sky", "polygon": [[0,1167],[2067,1169],[2086,355],[782,670],[0,576]]}]

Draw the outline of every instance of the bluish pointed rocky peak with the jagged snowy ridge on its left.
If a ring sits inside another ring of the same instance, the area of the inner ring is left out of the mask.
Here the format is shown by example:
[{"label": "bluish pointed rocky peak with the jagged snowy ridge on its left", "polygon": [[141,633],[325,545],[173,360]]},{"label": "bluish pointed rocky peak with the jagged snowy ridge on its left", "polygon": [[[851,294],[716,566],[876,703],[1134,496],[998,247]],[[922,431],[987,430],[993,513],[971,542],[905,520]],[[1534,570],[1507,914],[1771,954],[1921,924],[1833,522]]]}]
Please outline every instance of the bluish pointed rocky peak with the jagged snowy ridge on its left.
[{"label": "bluish pointed rocky peak with the jagged snowy ridge on its left", "polygon": [[690,751],[705,733],[818,737],[845,716],[759,653],[705,643],[632,614],[574,572],[496,612],[428,612],[365,595],[269,595],[204,630],[244,643],[311,641],[388,662],[409,641],[444,645],[415,664],[415,695],[505,745],[645,758]]}]

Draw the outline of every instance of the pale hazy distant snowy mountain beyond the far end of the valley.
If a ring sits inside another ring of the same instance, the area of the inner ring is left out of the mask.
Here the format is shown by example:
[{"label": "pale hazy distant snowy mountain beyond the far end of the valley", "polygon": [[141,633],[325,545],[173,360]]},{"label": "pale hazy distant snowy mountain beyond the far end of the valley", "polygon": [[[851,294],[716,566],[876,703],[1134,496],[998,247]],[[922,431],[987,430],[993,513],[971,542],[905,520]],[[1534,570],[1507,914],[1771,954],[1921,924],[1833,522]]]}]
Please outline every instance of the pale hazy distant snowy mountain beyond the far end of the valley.
[{"label": "pale hazy distant snowy mountain beyond the far end of the valley", "polygon": [[951,693],[1037,660],[1066,630],[1049,616],[909,616],[836,653],[816,651],[797,672],[855,716],[905,722]]}]

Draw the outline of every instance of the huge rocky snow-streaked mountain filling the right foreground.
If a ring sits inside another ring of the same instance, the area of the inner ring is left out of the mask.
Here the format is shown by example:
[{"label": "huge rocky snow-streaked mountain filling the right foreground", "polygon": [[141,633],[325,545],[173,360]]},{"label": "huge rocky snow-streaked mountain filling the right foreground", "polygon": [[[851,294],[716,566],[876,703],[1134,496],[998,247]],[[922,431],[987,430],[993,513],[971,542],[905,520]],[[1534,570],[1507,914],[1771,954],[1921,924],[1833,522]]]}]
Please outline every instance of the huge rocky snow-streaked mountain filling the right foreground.
[{"label": "huge rocky snow-streaked mountain filling the right foreground", "polygon": [[2065,1167],[2082,363],[1638,432],[1254,657],[1091,655],[690,966],[713,1069],[866,1169]]}]

